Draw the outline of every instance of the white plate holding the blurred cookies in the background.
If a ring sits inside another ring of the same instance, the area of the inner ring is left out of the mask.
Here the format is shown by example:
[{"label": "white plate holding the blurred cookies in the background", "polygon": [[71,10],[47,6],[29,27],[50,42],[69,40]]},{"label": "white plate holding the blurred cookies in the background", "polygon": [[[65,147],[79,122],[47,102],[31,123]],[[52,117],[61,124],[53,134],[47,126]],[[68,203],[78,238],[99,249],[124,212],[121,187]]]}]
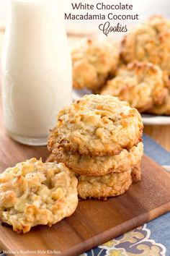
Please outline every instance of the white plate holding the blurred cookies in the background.
[{"label": "white plate holding the blurred cookies in the background", "polygon": [[[83,95],[90,94],[90,90],[73,90],[73,101],[79,100]],[[143,124],[165,125],[170,124],[170,116],[156,116],[152,114],[142,114]]]}]

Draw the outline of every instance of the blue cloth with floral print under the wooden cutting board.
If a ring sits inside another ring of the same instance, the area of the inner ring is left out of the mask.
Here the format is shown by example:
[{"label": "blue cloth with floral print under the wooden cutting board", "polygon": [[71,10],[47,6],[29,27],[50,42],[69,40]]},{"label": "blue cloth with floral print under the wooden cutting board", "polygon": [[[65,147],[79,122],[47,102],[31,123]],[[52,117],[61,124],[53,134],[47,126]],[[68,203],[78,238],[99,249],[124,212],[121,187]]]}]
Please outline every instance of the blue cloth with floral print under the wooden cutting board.
[{"label": "blue cloth with floral print under the wooden cutting board", "polygon": [[[143,136],[145,153],[162,166],[170,166],[170,153],[148,135]],[[170,186],[170,184],[169,184]],[[170,213],[112,239],[83,256],[170,256]]]}]

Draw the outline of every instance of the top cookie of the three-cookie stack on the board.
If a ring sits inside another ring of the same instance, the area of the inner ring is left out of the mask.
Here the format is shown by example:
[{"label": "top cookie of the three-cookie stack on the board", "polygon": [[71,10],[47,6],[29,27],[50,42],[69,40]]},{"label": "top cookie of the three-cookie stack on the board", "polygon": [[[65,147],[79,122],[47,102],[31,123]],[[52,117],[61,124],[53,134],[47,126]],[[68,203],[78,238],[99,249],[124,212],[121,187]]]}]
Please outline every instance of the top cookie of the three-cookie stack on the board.
[{"label": "top cookie of the three-cookie stack on the board", "polygon": [[117,155],[138,145],[143,133],[140,114],[110,95],[85,95],[63,108],[48,140],[53,153],[64,148],[81,155]]}]

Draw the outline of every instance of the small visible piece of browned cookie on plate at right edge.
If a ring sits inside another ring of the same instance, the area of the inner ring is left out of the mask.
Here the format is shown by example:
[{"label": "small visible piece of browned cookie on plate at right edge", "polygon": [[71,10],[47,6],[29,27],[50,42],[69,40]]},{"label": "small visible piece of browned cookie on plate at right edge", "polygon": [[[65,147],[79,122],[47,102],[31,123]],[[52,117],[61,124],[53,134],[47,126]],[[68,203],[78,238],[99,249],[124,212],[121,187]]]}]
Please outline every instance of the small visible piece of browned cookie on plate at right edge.
[{"label": "small visible piece of browned cookie on plate at right edge", "polygon": [[170,116],[170,92],[162,105],[154,105],[147,112],[150,114]]}]

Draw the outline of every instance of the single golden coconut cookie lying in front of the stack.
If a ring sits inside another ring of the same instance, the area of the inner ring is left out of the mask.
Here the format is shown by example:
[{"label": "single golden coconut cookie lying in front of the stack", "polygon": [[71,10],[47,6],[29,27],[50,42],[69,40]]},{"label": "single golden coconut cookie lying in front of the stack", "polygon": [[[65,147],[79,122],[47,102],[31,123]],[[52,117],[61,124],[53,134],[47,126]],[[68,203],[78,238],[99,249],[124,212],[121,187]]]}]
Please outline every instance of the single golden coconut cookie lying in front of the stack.
[{"label": "single golden coconut cookie lying in front of the stack", "polygon": [[71,216],[78,205],[77,179],[64,163],[32,158],[0,174],[0,218],[14,231]]}]

